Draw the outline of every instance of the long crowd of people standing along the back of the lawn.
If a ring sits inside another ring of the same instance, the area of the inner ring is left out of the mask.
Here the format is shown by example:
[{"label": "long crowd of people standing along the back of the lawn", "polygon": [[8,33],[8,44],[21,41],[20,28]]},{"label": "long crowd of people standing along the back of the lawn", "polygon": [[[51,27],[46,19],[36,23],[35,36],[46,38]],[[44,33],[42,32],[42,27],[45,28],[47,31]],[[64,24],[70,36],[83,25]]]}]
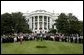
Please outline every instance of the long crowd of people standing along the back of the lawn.
[{"label": "long crowd of people standing along the back of the lawn", "polygon": [[1,37],[1,42],[20,42],[22,44],[22,41],[28,41],[28,40],[36,40],[36,41],[43,41],[43,40],[51,40],[51,41],[62,41],[62,42],[74,42],[74,43],[83,43],[83,37],[79,36],[65,36],[63,34],[52,34],[52,33],[30,33],[30,34],[23,34],[19,33],[14,36],[8,36],[8,37]]}]

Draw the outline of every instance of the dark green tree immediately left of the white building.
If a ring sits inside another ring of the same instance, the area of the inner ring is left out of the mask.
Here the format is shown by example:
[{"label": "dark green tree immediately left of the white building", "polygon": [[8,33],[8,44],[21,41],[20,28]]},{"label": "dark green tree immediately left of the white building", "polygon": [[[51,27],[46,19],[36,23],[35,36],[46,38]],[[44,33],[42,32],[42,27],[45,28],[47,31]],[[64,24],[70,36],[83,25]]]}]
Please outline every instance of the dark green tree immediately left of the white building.
[{"label": "dark green tree immediately left of the white building", "polygon": [[15,32],[29,32],[29,25],[21,12],[12,13],[13,28]]}]

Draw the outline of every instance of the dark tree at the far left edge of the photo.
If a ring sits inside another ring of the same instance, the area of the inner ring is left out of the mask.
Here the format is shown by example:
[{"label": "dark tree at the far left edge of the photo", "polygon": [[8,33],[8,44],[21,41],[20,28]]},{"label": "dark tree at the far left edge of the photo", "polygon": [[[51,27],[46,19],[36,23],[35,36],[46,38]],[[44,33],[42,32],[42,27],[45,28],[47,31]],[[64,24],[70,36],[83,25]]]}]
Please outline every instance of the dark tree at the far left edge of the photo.
[{"label": "dark tree at the far left edge of the photo", "polygon": [[5,13],[1,15],[1,34],[12,32],[11,14]]}]

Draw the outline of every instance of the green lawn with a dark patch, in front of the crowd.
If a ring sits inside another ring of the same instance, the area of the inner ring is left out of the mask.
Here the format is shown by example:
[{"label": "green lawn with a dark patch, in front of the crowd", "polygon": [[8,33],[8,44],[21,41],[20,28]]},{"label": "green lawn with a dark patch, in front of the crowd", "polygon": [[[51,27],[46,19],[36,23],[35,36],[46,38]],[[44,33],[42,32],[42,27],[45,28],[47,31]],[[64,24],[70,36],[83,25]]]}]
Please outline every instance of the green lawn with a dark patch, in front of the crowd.
[{"label": "green lawn with a dark patch, in front of the crowd", "polygon": [[1,54],[83,54],[83,44],[45,40],[1,43]]}]

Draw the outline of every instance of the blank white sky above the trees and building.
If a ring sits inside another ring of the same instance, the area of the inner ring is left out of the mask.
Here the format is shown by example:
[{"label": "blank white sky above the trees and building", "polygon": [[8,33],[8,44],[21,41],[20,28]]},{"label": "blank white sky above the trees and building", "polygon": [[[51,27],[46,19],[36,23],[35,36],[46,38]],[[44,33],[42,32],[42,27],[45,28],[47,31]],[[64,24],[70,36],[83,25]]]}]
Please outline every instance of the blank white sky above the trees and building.
[{"label": "blank white sky above the trees and building", "polygon": [[1,1],[1,14],[30,13],[40,9],[59,14],[72,13],[79,20],[83,20],[83,1]]}]

